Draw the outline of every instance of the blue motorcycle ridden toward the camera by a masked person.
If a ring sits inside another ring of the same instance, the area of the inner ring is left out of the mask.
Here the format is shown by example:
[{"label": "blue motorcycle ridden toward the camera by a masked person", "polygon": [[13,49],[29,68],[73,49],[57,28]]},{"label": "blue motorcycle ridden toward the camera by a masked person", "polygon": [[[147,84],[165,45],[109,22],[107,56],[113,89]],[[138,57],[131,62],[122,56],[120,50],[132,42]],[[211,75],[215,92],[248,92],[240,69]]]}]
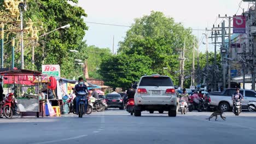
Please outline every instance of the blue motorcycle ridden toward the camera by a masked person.
[{"label": "blue motorcycle ridden toward the camera by a masked person", "polygon": [[79,115],[80,118],[83,117],[83,115],[85,114],[85,110],[87,110],[87,94],[86,92],[84,91],[80,91],[80,92],[77,92],[77,105],[76,105],[76,109],[75,110],[75,114]]}]

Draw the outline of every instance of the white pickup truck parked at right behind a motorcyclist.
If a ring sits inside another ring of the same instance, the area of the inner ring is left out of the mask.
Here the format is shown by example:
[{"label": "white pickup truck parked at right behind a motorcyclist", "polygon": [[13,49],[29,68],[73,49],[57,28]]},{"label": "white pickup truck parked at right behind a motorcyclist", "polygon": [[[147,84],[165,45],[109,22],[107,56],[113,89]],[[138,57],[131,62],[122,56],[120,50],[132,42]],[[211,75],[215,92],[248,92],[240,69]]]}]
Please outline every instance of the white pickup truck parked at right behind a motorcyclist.
[{"label": "white pickup truck parked at right behind a motorcyclist", "polygon": [[[218,107],[220,110],[226,112],[232,110],[232,94],[236,92],[236,88],[226,88],[222,92],[212,92],[206,95],[207,99],[210,99],[210,107]],[[243,95],[242,109],[252,111],[248,109],[249,101],[256,101],[256,92],[250,89],[240,89],[240,93]]]}]

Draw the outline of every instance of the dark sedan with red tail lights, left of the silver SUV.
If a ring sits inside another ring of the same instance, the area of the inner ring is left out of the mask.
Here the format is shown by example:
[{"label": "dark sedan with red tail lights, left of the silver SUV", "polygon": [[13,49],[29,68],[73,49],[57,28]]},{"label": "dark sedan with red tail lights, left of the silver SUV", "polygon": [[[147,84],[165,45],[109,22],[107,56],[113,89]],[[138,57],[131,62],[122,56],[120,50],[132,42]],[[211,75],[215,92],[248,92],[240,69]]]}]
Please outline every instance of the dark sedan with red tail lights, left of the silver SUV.
[{"label": "dark sedan with red tail lights, left of the silver SUV", "polygon": [[119,107],[120,110],[124,110],[124,101],[120,94],[107,94],[106,101],[108,107]]}]

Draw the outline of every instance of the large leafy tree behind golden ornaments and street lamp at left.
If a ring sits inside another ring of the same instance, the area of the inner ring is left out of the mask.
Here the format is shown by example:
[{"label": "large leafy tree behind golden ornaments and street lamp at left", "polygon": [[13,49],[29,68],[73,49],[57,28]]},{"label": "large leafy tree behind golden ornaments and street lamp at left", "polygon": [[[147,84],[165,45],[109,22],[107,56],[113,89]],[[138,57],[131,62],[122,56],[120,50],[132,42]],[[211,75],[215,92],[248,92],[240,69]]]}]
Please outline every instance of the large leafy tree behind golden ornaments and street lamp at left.
[{"label": "large leafy tree behind golden ornaments and street lamp at left", "polygon": [[[77,0],[71,1],[78,3]],[[4,9],[4,7],[2,7],[2,9]],[[67,0],[37,0],[27,2],[27,11],[24,11],[24,27],[26,27],[28,18],[31,18],[32,21],[35,22],[34,26],[37,26],[37,28],[43,23],[43,31],[40,31],[39,35],[53,31],[67,24],[71,25],[68,29],[59,29],[39,39],[40,46],[37,46],[35,49],[35,70],[41,70],[43,61],[44,64],[60,64],[61,76],[72,78],[71,75],[73,74],[71,73],[76,73],[76,70],[73,69],[77,69],[72,67],[72,65],[75,65],[74,58],[76,55],[69,52],[69,50],[78,49],[83,43],[82,40],[85,31],[88,30],[83,19],[83,17],[86,16],[84,9],[72,6]],[[13,35],[9,36],[13,37]],[[11,62],[11,47],[8,46],[6,49],[5,55],[8,57],[6,57],[5,63],[8,64]],[[83,49],[86,49],[86,47],[84,46]],[[83,51],[83,49],[81,49],[81,51]],[[86,57],[86,55],[83,57]],[[18,47],[16,47],[15,58],[15,67],[20,68],[20,51]],[[31,69],[31,46],[29,45],[25,45],[24,58],[25,68]]]}]

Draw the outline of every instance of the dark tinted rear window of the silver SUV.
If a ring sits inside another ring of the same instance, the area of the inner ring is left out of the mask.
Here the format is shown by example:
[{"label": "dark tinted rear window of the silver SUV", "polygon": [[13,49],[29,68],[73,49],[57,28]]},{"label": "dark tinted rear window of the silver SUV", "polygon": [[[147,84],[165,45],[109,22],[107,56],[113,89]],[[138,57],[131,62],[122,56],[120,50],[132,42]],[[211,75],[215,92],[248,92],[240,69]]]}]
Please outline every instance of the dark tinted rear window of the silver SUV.
[{"label": "dark tinted rear window of the silver SUV", "polygon": [[139,86],[173,86],[172,80],[170,77],[166,76],[146,76],[141,79]]}]

